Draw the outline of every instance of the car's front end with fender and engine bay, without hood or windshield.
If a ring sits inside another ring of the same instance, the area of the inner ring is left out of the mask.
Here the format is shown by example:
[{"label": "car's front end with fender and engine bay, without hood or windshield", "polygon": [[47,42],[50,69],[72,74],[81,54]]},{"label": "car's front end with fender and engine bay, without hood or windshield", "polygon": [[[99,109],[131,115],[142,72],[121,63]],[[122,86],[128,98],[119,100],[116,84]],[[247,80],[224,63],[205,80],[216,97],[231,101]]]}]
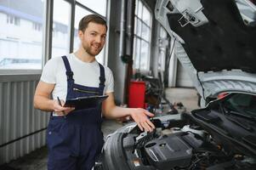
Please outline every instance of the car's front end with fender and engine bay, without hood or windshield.
[{"label": "car's front end with fender and engine bay, without hood or windshield", "polygon": [[105,143],[103,169],[255,169],[255,120],[224,112],[225,100],[155,117],[151,133],[122,127]]}]

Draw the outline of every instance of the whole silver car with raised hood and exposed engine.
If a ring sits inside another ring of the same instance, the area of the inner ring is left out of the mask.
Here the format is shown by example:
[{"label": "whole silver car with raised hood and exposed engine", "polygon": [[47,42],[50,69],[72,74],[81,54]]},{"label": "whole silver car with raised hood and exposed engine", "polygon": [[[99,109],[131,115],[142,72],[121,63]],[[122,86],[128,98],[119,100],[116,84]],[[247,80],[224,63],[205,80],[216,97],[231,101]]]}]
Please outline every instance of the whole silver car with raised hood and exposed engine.
[{"label": "whole silver car with raised hood and exposed engine", "polygon": [[155,14],[202,108],[117,129],[95,169],[256,169],[255,1],[158,0]]}]

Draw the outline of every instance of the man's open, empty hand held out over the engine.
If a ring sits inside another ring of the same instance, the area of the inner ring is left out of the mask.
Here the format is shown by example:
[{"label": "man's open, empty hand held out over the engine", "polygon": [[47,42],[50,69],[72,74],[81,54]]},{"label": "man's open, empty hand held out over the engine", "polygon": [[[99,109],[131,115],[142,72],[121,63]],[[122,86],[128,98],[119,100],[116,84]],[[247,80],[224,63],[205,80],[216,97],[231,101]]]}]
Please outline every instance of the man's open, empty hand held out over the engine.
[{"label": "man's open, empty hand held out over the engine", "polygon": [[154,116],[151,112],[145,109],[130,109],[130,116],[134,119],[141,131],[152,132],[155,128],[154,124],[149,120],[148,116]]}]

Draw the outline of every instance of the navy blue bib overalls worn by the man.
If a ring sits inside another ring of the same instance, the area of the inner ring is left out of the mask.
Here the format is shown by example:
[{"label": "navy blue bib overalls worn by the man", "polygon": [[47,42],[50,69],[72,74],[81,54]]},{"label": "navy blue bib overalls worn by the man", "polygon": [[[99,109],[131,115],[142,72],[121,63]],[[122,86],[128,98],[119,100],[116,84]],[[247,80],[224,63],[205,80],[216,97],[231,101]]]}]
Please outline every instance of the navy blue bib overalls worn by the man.
[{"label": "navy blue bib overalls worn by the man", "polygon": [[[102,95],[105,71],[100,65],[99,88],[76,84],[66,56],[62,57],[67,76],[66,99]],[[48,170],[90,170],[95,156],[104,144],[101,132],[101,105],[96,108],[72,111],[67,116],[51,116],[48,123]]]}]

